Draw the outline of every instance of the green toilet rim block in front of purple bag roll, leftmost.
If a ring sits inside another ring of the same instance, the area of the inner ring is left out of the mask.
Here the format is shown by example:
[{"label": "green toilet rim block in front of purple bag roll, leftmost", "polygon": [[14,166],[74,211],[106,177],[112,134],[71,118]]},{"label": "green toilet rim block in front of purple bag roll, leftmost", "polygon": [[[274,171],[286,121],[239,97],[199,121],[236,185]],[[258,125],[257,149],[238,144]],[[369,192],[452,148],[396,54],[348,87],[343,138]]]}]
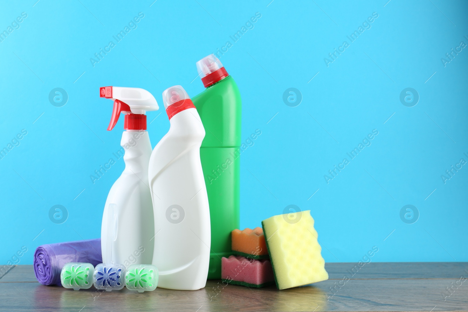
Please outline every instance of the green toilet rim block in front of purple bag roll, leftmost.
[{"label": "green toilet rim block in front of purple bag roll, leftmost", "polygon": [[68,262],[60,272],[60,282],[73,290],[88,289],[93,284],[94,266],[86,262]]}]

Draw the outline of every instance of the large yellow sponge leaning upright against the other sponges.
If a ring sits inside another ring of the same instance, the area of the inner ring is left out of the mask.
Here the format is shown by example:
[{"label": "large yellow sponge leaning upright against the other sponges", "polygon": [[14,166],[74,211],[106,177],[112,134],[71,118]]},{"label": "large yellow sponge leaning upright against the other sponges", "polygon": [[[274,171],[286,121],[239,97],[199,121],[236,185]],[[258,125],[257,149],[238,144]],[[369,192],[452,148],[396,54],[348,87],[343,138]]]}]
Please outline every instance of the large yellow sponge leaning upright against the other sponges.
[{"label": "large yellow sponge leaning upright against the other sponges", "polygon": [[328,279],[310,210],[273,216],[262,227],[278,289]]}]

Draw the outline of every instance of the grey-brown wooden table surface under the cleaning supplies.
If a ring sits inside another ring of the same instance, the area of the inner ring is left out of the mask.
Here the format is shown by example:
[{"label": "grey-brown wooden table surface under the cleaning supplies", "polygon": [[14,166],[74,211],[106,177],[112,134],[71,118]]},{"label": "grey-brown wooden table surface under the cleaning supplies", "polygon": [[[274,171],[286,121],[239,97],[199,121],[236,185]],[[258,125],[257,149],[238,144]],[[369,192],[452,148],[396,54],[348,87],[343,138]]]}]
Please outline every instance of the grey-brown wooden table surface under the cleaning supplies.
[{"label": "grey-brown wooden table surface under the cleaning supplies", "polygon": [[352,276],[355,265],[327,263],[329,280],[288,290],[208,281],[144,293],[43,286],[32,265],[18,265],[0,279],[0,311],[468,311],[468,262],[371,262]]}]

